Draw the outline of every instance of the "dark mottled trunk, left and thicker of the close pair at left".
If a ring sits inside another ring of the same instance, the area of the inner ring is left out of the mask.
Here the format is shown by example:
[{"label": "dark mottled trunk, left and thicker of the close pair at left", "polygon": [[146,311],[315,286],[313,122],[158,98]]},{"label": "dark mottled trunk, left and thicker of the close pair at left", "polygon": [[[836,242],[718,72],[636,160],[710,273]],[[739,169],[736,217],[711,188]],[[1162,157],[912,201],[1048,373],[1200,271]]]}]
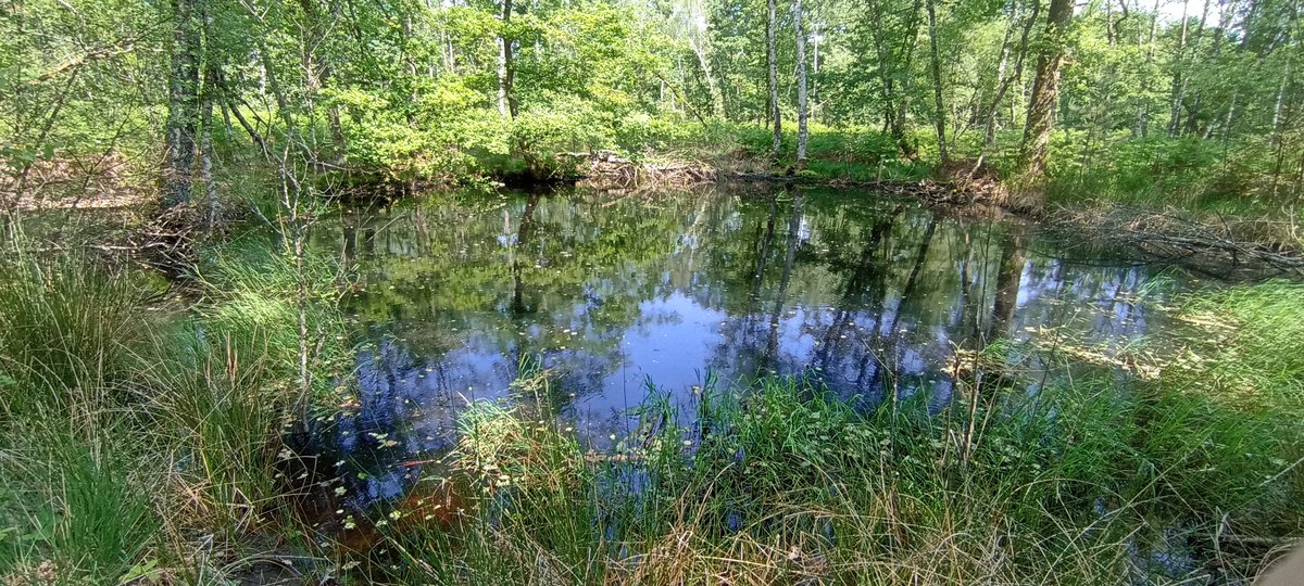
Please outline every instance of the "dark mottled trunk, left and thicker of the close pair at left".
[{"label": "dark mottled trunk, left and thicker of the close pair at left", "polygon": [[172,72],[168,83],[167,160],[163,197],[168,207],[190,202],[194,132],[200,100],[200,31],[194,0],[173,0]]}]

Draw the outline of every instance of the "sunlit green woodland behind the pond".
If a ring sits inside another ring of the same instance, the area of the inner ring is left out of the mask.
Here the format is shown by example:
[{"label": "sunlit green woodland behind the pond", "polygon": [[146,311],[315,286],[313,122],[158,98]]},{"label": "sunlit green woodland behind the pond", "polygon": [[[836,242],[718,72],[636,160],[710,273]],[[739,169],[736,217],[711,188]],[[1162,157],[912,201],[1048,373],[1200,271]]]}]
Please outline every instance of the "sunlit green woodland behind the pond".
[{"label": "sunlit green woodland behind the pond", "polygon": [[1304,189],[1299,12],[25,1],[3,21],[4,208],[106,181],[211,208],[250,169],[305,193],[537,181],[574,173],[559,154],[612,152],[1279,219]]}]

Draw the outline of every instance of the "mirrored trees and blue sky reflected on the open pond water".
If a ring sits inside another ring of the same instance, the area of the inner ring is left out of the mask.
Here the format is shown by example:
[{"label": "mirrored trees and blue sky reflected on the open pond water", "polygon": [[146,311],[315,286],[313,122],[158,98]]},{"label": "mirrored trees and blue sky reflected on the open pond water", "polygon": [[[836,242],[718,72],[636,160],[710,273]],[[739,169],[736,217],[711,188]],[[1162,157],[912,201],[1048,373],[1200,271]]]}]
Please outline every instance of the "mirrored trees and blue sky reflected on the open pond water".
[{"label": "mirrored trees and blue sky reflected on the open pond water", "polygon": [[[342,219],[322,238],[368,276],[351,306],[366,335],[385,332],[419,357],[432,393],[501,391],[519,359],[541,357],[570,413],[579,409],[569,393],[621,392],[622,369],[636,366],[622,346],[631,333],[672,332],[670,358],[705,346],[703,363],[681,366],[683,380],[704,369],[726,382],[776,370],[876,400],[884,388],[945,392],[956,345],[1081,309],[1058,298],[1102,301],[1082,319],[1093,335],[1133,327],[1118,314],[1133,314],[1138,270],[1065,267],[1029,257],[1026,237],[1004,224],[900,202],[776,195],[436,197]],[[672,297],[724,323],[677,326],[664,310]]]}]

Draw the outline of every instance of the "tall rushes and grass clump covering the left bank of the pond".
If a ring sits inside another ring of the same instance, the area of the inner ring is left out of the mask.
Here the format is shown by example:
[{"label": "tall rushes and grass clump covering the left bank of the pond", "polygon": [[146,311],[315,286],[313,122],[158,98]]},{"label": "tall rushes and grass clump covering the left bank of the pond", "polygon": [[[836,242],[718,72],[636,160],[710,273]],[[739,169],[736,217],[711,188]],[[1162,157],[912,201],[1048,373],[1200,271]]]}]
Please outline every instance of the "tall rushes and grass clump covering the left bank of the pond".
[{"label": "tall rushes and grass clump covering the left bank of the pond", "polygon": [[[300,344],[286,319],[299,303],[280,285],[292,266],[206,267],[186,310],[94,258],[0,264],[5,583],[213,576],[220,552],[286,510],[276,460]],[[304,305],[319,357],[346,356],[333,289]],[[313,363],[321,387],[326,365]]]}]

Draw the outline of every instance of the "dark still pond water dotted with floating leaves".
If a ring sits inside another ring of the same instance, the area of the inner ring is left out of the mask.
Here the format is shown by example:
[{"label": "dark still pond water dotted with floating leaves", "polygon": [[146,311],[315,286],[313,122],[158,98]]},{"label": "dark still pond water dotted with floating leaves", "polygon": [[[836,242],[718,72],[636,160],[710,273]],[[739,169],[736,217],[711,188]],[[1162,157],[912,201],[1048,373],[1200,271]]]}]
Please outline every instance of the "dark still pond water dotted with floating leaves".
[{"label": "dark still pond water dotted with floating leaves", "polygon": [[400,495],[411,474],[393,464],[451,447],[456,413],[507,397],[527,359],[602,449],[649,384],[681,412],[708,372],[940,408],[960,348],[1058,328],[1107,352],[1158,319],[1137,301],[1146,267],[1069,262],[1017,223],[868,191],[436,193],[346,214],[314,246],[364,284],[347,303],[370,341],[361,405],[325,439],[373,462],[355,504]]}]

